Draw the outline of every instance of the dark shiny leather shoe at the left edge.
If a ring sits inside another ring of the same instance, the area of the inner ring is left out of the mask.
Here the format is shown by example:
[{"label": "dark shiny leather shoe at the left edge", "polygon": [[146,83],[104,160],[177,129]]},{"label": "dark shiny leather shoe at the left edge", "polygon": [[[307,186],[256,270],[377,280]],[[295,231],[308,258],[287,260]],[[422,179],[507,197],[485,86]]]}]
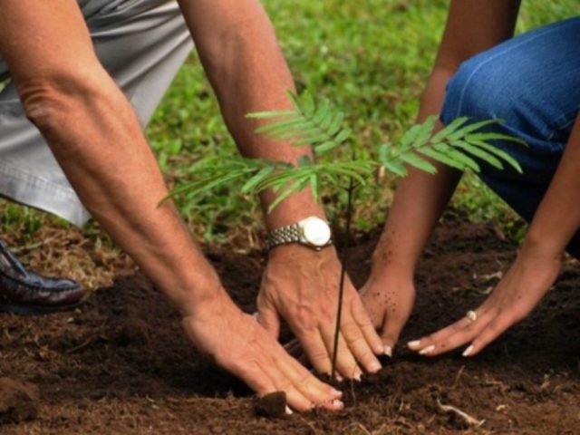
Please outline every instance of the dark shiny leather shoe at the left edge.
[{"label": "dark shiny leather shoe at the left edge", "polygon": [[86,293],[71,279],[29,272],[0,240],[0,311],[43,314],[69,310],[80,304]]}]

